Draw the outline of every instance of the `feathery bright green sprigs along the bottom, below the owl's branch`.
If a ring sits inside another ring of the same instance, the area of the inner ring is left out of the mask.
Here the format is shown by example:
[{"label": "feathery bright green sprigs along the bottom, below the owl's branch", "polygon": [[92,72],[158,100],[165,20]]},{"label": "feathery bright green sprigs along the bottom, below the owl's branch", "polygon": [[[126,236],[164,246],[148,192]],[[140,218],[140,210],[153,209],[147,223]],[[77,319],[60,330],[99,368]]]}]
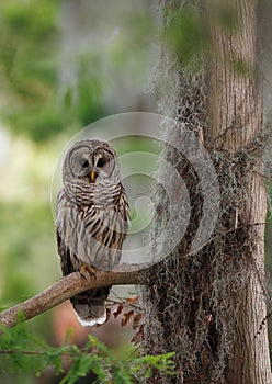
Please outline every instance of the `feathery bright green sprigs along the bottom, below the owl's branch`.
[{"label": "feathery bright green sprigs along the bottom, below the owl's branch", "polygon": [[110,350],[94,336],[89,335],[84,348],[75,345],[53,348],[31,334],[25,324],[14,328],[1,327],[0,374],[30,372],[37,376],[48,368],[55,368],[55,375],[68,372],[60,384],[72,384],[88,373],[95,374],[95,383],[131,384],[137,377],[148,379],[152,370],[174,374],[173,353],[156,357],[138,357],[136,347],[124,346],[120,350]]}]

